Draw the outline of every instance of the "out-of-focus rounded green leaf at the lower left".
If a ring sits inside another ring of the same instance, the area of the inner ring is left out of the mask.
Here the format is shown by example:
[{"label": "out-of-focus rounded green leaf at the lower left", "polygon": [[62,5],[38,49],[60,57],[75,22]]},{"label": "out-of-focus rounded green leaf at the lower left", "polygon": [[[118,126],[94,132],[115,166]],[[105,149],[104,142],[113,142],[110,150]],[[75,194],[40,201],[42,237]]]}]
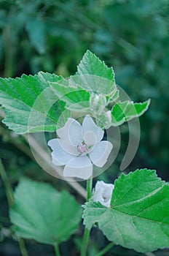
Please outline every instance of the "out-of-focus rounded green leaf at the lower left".
[{"label": "out-of-focus rounded green leaf at the lower left", "polygon": [[15,190],[9,215],[18,236],[54,245],[76,231],[82,209],[68,192],[26,179]]}]

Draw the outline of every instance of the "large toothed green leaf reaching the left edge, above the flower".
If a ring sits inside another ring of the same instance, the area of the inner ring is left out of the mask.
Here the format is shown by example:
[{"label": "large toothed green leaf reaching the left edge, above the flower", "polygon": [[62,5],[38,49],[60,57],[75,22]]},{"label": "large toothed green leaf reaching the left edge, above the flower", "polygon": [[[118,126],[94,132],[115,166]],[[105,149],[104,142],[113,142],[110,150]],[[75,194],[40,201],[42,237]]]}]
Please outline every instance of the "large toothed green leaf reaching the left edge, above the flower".
[{"label": "large toothed green leaf reaching the left edge, above the flower", "polygon": [[69,113],[67,110],[63,114],[65,103],[57,101],[49,84],[60,79],[44,72],[15,79],[0,78],[0,104],[6,113],[4,124],[18,134],[52,132],[63,126]]}]

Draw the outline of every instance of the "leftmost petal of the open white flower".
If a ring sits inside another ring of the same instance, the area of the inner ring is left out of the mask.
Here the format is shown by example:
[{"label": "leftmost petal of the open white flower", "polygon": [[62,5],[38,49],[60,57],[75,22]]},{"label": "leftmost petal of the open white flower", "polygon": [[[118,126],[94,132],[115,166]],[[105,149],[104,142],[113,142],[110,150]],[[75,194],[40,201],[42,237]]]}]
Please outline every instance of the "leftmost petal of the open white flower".
[{"label": "leftmost petal of the open white flower", "polygon": [[59,139],[53,139],[48,141],[48,145],[52,148],[52,163],[54,165],[60,166],[65,165],[68,161],[70,161],[74,156],[66,153],[63,148],[60,146],[58,141]]}]

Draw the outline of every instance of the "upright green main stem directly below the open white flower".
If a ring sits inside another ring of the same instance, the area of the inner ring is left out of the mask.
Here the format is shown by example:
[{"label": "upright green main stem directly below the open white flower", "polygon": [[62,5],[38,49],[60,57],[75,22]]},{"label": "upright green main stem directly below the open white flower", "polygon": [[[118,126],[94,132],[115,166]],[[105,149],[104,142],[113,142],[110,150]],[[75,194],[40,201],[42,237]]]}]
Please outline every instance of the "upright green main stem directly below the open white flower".
[{"label": "upright green main stem directly below the open white flower", "polygon": [[[91,177],[87,180],[87,202],[90,200],[90,197],[92,195],[92,183],[93,183],[93,178]],[[82,240],[82,247],[81,247],[81,256],[86,256],[89,236],[90,236],[90,230],[88,230],[85,227],[84,236]]]}]

